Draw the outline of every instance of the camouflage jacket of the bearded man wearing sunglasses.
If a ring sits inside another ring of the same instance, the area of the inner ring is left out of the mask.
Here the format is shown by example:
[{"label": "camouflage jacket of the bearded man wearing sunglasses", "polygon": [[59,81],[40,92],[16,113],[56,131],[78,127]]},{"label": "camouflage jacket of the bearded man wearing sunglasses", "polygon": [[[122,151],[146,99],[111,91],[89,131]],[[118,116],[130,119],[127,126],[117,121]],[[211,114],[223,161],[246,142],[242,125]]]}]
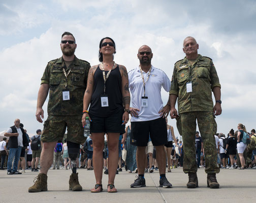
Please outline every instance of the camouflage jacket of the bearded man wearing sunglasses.
[{"label": "camouflage jacket of the bearded man wearing sunglasses", "polygon": [[[69,75],[66,78],[63,67]],[[48,62],[41,84],[49,84],[48,115],[75,116],[83,111],[83,96],[87,85],[90,63],[76,56],[68,68],[60,57]],[[67,87],[66,87],[67,83]],[[70,100],[62,99],[62,91],[69,90]]]}]

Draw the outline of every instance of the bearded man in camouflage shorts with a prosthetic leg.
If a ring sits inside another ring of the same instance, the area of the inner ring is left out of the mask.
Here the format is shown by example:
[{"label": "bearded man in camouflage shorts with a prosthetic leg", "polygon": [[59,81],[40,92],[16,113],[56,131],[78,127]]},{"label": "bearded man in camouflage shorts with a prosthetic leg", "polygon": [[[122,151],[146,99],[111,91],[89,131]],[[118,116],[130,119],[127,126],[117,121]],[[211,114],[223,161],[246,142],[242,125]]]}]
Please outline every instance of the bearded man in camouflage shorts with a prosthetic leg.
[{"label": "bearded man in camouflage shorts with a prosthetic leg", "polygon": [[43,105],[49,94],[48,118],[44,122],[42,134],[43,149],[41,168],[37,181],[28,188],[28,192],[47,190],[47,172],[53,161],[53,150],[58,140],[62,140],[68,128],[67,145],[69,157],[73,161],[69,189],[82,190],[76,173],[76,158],[80,144],[85,142],[81,123],[83,112],[83,95],[86,89],[90,64],[75,56],[77,44],[70,32],[61,36],[60,48],[62,57],[48,62],[38,92],[37,120],[42,123],[44,118]]}]

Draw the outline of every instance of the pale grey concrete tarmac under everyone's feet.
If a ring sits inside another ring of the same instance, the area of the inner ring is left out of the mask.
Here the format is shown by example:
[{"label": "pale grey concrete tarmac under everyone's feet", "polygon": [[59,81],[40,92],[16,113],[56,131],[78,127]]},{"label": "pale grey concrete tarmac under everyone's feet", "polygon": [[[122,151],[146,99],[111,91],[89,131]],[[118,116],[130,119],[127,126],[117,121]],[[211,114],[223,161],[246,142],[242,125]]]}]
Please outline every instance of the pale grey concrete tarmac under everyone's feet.
[{"label": "pale grey concrete tarmac under everyone's feet", "polygon": [[130,188],[138,174],[129,174],[123,168],[115,178],[117,193],[108,193],[108,175],[103,174],[103,192],[91,193],[95,185],[93,171],[78,169],[79,182],[83,191],[69,191],[70,170],[52,170],[48,172],[48,191],[28,193],[38,172],[26,170],[21,175],[7,175],[0,171],[0,202],[111,202],[111,203],[158,203],[158,202],[254,202],[256,189],[256,168],[246,170],[221,169],[217,174],[219,189],[207,188],[204,168],[199,168],[199,187],[186,188],[188,177],[182,168],[166,173],[173,188],[159,188],[159,173],[146,173],[146,187]]}]

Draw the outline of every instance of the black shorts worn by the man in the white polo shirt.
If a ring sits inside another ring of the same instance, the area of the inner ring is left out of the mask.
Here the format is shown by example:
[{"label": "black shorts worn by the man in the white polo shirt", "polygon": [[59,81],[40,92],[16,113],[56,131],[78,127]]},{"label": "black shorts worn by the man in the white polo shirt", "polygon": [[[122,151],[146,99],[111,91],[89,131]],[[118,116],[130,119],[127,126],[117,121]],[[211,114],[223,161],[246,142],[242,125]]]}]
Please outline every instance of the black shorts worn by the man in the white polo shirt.
[{"label": "black shorts worn by the man in the white polo shirt", "polygon": [[131,142],[135,146],[147,146],[149,134],[153,146],[167,144],[167,126],[164,118],[150,121],[131,122]]}]

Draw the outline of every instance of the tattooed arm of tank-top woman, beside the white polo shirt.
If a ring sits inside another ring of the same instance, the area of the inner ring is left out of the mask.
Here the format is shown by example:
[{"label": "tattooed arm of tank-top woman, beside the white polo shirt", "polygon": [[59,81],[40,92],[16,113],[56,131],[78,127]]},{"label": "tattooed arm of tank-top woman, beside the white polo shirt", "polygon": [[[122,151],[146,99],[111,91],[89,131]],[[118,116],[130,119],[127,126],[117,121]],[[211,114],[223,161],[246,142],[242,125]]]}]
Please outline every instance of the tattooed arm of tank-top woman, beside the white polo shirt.
[{"label": "tattooed arm of tank-top woman, beside the white polo shirt", "polygon": [[[128,80],[128,73],[126,68],[123,65],[119,65],[119,70],[122,78],[122,97],[123,97],[123,105],[124,109],[130,109],[130,91],[129,91],[129,80]],[[129,113],[124,112],[123,114],[123,123],[126,124],[129,120]]]}]

